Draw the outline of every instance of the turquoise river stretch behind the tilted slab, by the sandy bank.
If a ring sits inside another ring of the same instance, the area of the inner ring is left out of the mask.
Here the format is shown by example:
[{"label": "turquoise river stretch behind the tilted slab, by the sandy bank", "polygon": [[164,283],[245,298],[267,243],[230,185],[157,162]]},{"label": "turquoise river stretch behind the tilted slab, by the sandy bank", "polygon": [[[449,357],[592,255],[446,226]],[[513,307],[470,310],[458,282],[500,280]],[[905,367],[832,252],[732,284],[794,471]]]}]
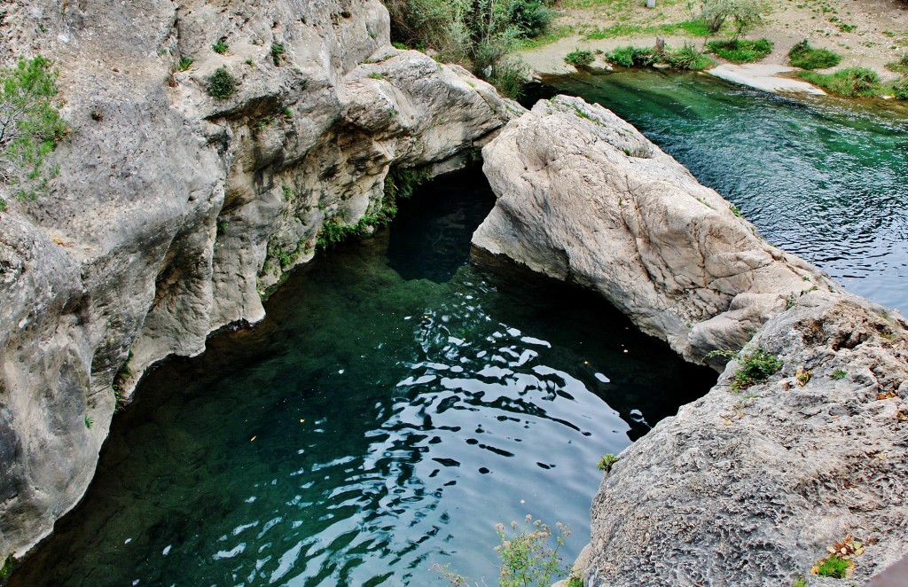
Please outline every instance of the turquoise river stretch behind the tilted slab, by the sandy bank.
[{"label": "turquoise river stretch behind the tilted slab, by the sandy bank", "polygon": [[908,314],[908,104],[793,100],[657,71],[546,81],[636,125],[769,242]]}]

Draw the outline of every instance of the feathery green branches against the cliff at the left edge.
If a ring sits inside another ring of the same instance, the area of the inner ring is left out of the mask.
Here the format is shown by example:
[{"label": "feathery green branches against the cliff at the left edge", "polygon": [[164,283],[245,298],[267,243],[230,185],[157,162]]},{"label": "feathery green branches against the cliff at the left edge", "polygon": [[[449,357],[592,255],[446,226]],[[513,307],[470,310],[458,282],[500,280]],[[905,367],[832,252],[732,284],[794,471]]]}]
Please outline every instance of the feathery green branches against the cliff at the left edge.
[{"label": "feathery green branches against the cliff at the left edge", "polygon": [[0,69],[0,185],[15,186],[17,197],[34,199],[46,188],[41,167],[69,133],[54,103],[57,75],[41,55]]}]

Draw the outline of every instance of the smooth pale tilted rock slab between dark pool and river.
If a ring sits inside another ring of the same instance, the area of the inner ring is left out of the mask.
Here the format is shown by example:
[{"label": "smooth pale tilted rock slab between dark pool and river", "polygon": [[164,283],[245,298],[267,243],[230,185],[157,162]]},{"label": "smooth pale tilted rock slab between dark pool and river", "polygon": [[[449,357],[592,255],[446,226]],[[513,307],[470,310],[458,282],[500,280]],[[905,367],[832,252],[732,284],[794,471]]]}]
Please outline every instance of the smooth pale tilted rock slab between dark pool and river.
[{"label": "smooth pale tilted rock slab between dark pool and river", "polygon": [[788,296],[838,289],[580,98],[539,102],[482,154],[498,202],[473,243],[596,289],[687,359],[740,348]]}]

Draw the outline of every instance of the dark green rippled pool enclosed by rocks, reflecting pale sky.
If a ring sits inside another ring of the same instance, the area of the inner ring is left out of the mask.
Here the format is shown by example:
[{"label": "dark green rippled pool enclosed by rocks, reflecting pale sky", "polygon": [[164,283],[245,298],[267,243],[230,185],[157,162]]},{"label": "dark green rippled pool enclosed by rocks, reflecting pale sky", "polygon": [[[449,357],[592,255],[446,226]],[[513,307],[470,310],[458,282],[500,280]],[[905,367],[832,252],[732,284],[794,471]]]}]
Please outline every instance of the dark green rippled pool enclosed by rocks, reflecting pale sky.
[{"label": "dark green rippled pool enclosed by rocks, reflecting pale sky", "polygon": [[596,296],[469,263],[476,172],[143,380],[83,504],[11,585],[495,584],[496,522],[588,540],[604,453],[705,393]]}]

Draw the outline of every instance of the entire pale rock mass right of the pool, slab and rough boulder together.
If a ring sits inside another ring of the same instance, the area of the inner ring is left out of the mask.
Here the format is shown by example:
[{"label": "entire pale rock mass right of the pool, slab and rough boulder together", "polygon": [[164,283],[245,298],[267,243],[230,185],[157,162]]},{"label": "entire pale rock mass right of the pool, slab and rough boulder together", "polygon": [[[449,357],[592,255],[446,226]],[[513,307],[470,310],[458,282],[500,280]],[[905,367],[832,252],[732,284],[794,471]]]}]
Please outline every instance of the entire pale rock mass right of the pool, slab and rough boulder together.
[{"label": "entire pale rock mass right of the pool, slab and rough boulder together", "polygon": [[539,103],[483,156],[498,203],[474,244],[597,290],[688,359],[746,344],[781,362],[735,392],[733,360],[620,455],[593,504],[585,584],[791,584],[848,535],[866,546],[860,580],[908,552],[898,313],[766,244],[601,106]]}]

